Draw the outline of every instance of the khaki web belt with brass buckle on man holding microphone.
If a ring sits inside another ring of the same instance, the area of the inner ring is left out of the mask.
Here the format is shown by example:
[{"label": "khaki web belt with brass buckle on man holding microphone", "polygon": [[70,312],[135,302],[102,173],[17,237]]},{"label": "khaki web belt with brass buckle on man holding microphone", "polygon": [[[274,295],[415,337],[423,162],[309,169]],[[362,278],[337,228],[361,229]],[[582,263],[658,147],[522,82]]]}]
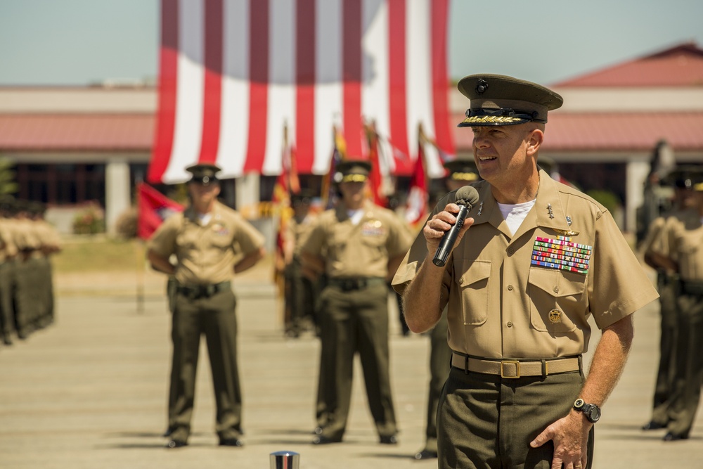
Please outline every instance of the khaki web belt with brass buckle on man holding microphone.
[{"label": "khaki web belt with brass buckle on man holding microphone", "polygon": [[580,357],[564,359],[479,359],[452,352],[451,366],[464,373],[486,373],[500,375],[501,378],[522,378],[522,376],[546,376],[581,370]]}]

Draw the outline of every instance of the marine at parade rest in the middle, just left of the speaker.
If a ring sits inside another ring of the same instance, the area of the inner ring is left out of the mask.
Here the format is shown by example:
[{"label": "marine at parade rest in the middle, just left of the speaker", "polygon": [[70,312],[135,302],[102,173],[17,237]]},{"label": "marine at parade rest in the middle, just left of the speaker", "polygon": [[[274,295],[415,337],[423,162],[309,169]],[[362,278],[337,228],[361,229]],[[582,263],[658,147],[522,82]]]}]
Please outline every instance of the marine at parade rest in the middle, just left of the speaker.
[{"label": "marine at parade rest in the middle, just left of the speaker", "polygon": [[314,444],[342,441],[357,353],[380,442],[397,442],[389,376],[387,280],[411,238],[394,212],[366,199],[370,169],[370,163],[361,160],[344,160],[337,165],[335,183],[342,200],[319,215],[301,249],[304,265],[327,276],[320,314],[321,373],[328,420]]}]

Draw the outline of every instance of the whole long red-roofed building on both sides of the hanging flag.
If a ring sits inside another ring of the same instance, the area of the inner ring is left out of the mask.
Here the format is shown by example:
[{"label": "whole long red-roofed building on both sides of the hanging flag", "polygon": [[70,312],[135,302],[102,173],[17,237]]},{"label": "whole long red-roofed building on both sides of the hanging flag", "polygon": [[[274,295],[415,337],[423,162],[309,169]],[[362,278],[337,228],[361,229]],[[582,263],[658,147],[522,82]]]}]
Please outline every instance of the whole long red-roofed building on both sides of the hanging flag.
[{"label": "whole long red-roofed building on both sides of the hanging flag", "polygon": [[[696,44],[550,87],[565,104],[550,113],[541,154],[584,191],[617,195],[626,231],[635,229],[659,141],[669,143],[676,162],[703,163],[703,50]],[[460,122],[467,101],[456,89],[450,96]],[[51,205],[95,199],[109,226],[146,174],[156,100],[153,86],[0,87],[0,156],[15,162],[18,197]],[[470,129],[453,136],[459,153],[471,153]],[[233,203],[234,183],[223,193]]]}]

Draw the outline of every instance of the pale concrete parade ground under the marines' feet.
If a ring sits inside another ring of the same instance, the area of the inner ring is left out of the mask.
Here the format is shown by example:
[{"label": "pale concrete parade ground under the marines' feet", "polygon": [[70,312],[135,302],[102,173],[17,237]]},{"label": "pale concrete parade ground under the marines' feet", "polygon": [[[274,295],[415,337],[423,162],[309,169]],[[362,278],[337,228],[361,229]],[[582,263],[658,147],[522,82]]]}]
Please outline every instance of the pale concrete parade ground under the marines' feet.
[{"label": "pale concrete parade ground under the marines' feet", "polygon": [[[245,446],[217,446],[203,340],[193,435],[189,446],[165,449],[170,318],[164,278],[146,283],[138,304],[117,280],[89,294],[58,279],[56,323],[0,348],[0,469],[263,469],[282,450],[299,453],[301,469],[437,467],[413,459],[424,443],[429,339],[403,337],[389,303],[397,446],[378,444],[358,361],[344,442],[312,446],[318,340],[285,338],[273,285],[252,276],[236,283]],[[658,340],[652,304],[636,314],[628,366],[596,426],[595,468],[702,467],[701,413],[688,441],[639,429],[650,418]],[[591,350],[597,341],[595,333]]]}]

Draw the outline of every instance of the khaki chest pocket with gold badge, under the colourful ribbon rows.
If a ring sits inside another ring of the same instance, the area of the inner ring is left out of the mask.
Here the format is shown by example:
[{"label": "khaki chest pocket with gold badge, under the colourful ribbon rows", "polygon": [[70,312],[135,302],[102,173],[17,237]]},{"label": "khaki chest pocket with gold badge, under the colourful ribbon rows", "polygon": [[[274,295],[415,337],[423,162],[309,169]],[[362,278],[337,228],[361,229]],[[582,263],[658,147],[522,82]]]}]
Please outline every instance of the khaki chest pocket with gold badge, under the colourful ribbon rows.
[{"label": "khaki chest pocket with gold badge, under the colourful ribbon rows", "polygon": [[548,333],[576,329],[573,316],[586,309],[585,275],[533,267],[527,281],[532,327]]}]

